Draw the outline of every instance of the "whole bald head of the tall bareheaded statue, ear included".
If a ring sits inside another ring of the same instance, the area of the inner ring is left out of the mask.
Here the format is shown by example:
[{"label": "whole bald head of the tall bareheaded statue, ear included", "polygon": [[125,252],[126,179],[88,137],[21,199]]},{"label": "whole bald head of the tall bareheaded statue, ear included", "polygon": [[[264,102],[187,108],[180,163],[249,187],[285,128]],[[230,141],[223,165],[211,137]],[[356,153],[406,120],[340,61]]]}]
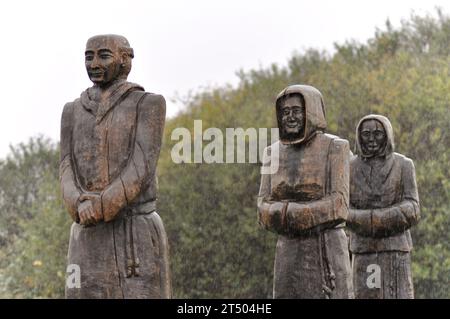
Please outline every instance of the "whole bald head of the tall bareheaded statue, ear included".
[{"label": "whole bald head of the tall bareheaded statue, ear included", "polygon": [[133,49],[125,37],[115,34],[93,36],[87,41],[85,51],[89,79],[99,86],[126,79],[133,57]]}]

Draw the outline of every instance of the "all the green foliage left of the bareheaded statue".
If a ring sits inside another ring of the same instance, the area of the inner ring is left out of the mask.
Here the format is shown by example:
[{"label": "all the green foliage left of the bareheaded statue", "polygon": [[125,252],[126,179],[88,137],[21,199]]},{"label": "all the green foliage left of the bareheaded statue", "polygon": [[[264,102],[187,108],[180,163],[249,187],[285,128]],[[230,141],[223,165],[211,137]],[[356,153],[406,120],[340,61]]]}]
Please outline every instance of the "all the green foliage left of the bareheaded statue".
[{"label": "all the green foliage left of the bareheaded statue", "polygon": [[43,137],[0,163],[0,297],[63,296],[70,219],[59,193],[59,150]]}]

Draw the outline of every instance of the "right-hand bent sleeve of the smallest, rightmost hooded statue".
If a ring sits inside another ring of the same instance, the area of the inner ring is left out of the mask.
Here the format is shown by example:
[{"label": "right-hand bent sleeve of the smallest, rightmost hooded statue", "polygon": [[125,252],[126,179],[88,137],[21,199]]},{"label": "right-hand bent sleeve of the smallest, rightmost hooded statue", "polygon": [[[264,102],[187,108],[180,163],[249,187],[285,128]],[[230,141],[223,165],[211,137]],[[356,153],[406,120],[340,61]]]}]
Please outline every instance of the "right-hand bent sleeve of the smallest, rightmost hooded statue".
[{"label": "right-hand bent sleeve of the smallest, rightmost hooded statue", "polygon": [[372,210],[352,210],[351,228],[360,235],[387,237],[404,232],[420,219],[414,163],[405,159],[402,165],[402,201],[398,204]]}]

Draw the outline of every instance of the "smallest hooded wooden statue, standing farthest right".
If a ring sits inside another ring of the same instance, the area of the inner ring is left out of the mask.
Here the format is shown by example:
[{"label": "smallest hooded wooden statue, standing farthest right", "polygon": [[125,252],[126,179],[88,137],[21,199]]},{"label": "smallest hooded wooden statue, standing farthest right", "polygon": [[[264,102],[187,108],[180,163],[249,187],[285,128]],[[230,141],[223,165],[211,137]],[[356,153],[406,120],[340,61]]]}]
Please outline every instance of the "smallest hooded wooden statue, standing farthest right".
[{"label": "smallest hooded wooden statue, standing farthest right", "polygon": [[350,163],[347,222],[355,297],[414,298],[409,228],[419,220],[419,196],[411,159],[394,153],[391,123],[363,117]]}]

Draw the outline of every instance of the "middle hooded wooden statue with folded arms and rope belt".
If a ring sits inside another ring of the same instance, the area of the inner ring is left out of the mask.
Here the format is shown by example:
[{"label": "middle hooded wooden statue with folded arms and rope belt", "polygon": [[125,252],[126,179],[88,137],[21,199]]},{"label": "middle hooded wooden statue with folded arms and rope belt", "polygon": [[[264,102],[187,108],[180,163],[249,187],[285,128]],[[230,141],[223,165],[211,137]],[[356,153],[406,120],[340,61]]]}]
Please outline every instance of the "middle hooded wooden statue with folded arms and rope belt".
[{"label": "middle hooded wooden statue with folded arms and rope belt", "polygon": [[325,134],[321,93],[293,85],[276,100],[280,140],[265,149],[260,225],[277,233],[274,298],[352,298],[348,241],[349,146]]}]

